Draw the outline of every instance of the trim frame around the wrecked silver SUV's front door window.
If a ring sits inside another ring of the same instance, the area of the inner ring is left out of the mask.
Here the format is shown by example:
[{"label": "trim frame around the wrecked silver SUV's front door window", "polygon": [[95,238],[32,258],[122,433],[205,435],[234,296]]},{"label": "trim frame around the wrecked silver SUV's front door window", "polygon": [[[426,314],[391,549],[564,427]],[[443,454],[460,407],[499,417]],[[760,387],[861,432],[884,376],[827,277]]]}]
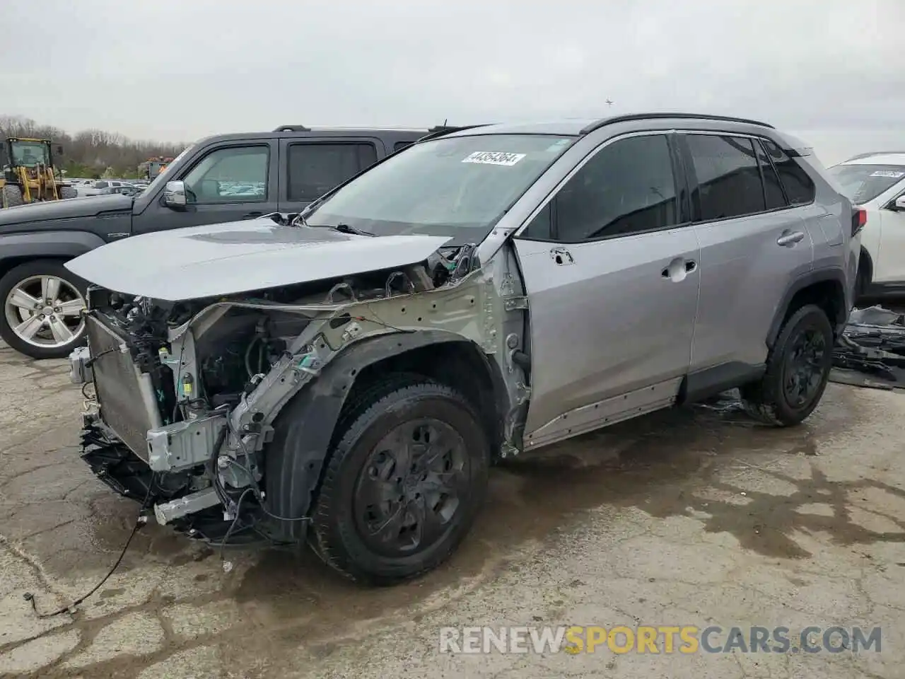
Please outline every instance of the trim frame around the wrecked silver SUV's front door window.
[{"label": "trim frame around the wrecked silver SUV's front door window", "polygon": [[[666,145],[669,148],[670,159],[672,160],[672,183],[675,189],[676,195],[676,207],[679,215],[679,219],[685,219],[687,221],[680,221],[678,224],[668,225],[668,226],[660,226],[655,229],[647,229],[646,231],[636,231],[631,234],[604,234],[597,236],[596,238],[588,238],[580,241],[563,241],[558,238],[554,238],[552,234],[553,219],[552,219],[552,211],[553,207],[550,207],[551,211],[551,219],[550,219],[550,227],[551,233],[549,238],[538,238],[535,236],[528,237],[522,235],[528,229],[531,222],[533,222],[537,216],[547,209],[547,206],[550,202],[559,194],[564,186],[575,177],[585,166],[587,163],[591,161],[592,158],[600,153],[604,148],[616,143],[617,141],[622,141],[623,139],[632,139],[634,137],[664,137],[666,138]],[[633,238],[639,235],[647,235],[647,234],[659,234],[662,231],[672,231],[673,229],[681,229],[692,225],[691,222],[691,211],[690,211],[690,203],[689,203],[689,182],[688,178],[685,176],[685,167],[684,162],[680,156],[679,147],[676,145],[676,134],[672,129],[644,129],[644,130],[636,130],[633,132],[626,132],[625,134],[621,134],[617,137],[611,137],[610,139],[605,139],[605,141],[601,142],[595,148],[592,148],[588,151],[587,155],[579,160],[575,167],[569,170],[566,177],[563,177],[557,182],[557,186],[554,186],[553,189],[548,193],[547,196],[540,202],[540,204],[535,207],[534,210],[528,215],[524,222],[515,230],[512,234],[512,238],[516,238],[522,241],[531,241],[532,243],[551,243],[551,244],[559,244],[559,245],[581,245],[586,243],[599,243],[601,241],[609,241],[614,240],[615,238]]]}]

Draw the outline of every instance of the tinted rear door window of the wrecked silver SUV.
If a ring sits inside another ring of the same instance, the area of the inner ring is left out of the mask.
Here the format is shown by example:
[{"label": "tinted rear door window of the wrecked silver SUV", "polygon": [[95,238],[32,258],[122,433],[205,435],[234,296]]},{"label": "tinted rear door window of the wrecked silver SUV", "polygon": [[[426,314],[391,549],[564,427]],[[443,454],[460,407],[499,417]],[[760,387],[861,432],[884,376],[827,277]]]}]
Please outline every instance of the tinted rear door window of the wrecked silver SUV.
[{"label": "tinted rear door window of the wrecked silver SUV", "polygon": [[745,137],[690,134],[698,186],[691,202],[701,221],[752,215],[766,209],[754,144]]}]

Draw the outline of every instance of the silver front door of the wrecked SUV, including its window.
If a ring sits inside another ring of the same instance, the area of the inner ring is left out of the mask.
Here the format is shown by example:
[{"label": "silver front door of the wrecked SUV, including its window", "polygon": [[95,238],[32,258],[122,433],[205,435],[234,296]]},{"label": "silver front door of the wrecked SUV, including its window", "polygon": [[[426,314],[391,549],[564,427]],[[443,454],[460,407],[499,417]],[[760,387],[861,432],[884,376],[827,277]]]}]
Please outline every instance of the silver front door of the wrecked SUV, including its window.
[{"label": "silver front door of the wrecked SUV, including its window", "polygon": [[607,142],[514,241],[531,330],[526,448],[670,405],[678,393],[699,258],[671,139]]}]

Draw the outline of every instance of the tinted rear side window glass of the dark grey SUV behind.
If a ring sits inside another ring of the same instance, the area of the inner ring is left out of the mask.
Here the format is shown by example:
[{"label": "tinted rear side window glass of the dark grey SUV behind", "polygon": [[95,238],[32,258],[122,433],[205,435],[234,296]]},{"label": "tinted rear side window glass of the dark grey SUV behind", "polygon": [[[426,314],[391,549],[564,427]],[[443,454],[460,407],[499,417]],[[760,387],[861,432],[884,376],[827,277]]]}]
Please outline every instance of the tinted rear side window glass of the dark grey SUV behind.
[{"label": "tinted rear side window glass of the dark grey SUV behind", "polygon": [[374,144],[291,144],[287,169],[289,199],[315,200],[376,162]]}]

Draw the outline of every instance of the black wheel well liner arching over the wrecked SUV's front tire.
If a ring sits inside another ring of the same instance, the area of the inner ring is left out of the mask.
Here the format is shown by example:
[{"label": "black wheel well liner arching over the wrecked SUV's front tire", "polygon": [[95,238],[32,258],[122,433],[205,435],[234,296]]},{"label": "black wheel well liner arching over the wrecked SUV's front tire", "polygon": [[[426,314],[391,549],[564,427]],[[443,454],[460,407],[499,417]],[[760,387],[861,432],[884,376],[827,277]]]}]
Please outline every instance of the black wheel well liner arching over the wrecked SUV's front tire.
[{"label": "black wheel well liner arching over the wrecked SUV's front tire", "polygon": [[[469,370],[479,368],[481,362],[485,370],[476,373]],[[281,459],[281,446],[264,449],[265,483],[267,493],[274,501],[274,513],[287,517],[308,514],[322,481],[343,407],[354,402],[349,398],[353,392],[373,384],[373,380],[391,370],[416,371],[461,389],[465,397],[477,398],[476,409],[480,409],[485,426],[490,427],[491,445],[500,444],[498,423],[500,412],[504,412],[501,408],[505,407],[506,393],[502,376],[471,340],[444,330],[392,333],[366,339],[339,354],[323,368],[319,378],[293,397],[299,402],[283,406],[274,421],[274,428],[292,426],[282,421],[291,413],[294,423],[298,423],[293,426],[291,435],[304,441],[301,454],[296,454],[292,460]],[[281,523],[282,538],[304,539],[306,523]]]}]

